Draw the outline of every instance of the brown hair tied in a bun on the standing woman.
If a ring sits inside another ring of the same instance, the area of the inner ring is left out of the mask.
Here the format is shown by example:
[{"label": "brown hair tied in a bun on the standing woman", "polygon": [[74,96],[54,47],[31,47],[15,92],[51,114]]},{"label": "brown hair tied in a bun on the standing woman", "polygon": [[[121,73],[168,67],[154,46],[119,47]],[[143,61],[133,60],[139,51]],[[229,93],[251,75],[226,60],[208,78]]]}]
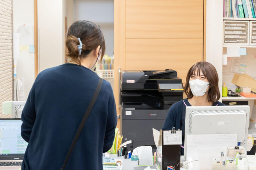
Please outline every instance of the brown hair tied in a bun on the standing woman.
[{"label": "brown hair tied in a bun on the standing woman", "polygon": [[[82,42],[82,52],[79,56],[79,50],[77,46],[79,45],[80,38]],[[105,40],[101,32],[101,28],[91,22],[91,21],[76,21],[74,22],[67,31],[66,47],[67,47],[67,56],[71,59],[79,61],[79,64],[82,58],[85,58],[92,50],[100,46],[101,49],[101,58],[105,53]]]}]

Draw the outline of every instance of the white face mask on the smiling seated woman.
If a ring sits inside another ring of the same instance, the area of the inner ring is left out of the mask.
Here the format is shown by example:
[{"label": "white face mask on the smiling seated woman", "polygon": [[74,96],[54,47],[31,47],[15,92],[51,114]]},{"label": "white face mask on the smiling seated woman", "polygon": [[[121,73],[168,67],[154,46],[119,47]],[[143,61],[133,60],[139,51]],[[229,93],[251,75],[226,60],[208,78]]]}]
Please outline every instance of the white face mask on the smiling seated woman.
[{"label": "white face mask on the smiling seated woman", "polygon": [[189,81],[190,89],[195,96],[202,96],[206,93],[209,83],[196,79]]}]

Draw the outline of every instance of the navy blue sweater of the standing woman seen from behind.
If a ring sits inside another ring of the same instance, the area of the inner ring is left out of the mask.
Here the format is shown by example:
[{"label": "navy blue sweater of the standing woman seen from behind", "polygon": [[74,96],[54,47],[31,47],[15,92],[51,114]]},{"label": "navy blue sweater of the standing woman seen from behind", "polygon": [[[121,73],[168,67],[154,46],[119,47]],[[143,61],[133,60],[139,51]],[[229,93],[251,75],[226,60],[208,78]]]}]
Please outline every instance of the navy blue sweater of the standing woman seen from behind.
[{"label": "navy blue sweater of the standing woman seen from behind", "polygon": [[[28,142],[22,169],[62,167],[98,81],[94,72],[75,64],[37,76],[21,116],[21,135]],[[102,153],[112,146],[116,123],[113,91],[103,81],[66,170],[102,169]]]}]

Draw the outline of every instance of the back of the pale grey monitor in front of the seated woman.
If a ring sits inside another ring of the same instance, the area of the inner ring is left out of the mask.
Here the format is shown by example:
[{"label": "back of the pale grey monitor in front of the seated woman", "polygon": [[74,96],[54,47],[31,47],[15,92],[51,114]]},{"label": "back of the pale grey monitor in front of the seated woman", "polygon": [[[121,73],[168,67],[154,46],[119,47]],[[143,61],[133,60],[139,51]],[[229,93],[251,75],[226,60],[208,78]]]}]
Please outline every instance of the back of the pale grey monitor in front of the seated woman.
[{"label": "back of the pale grey monitor in front of the seated woman", "polygon": [[185,152],[187,134],[234,134],[237,142],[247,148],[249,106],[186,107]]}]

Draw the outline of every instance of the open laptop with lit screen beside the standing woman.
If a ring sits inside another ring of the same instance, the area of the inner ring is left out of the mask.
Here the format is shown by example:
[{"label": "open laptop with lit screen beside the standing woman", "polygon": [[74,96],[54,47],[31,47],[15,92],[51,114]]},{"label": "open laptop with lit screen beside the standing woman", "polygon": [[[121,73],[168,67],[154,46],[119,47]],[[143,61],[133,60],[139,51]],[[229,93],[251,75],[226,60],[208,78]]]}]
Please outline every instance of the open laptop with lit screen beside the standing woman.
[{"label": "open laptop with lit screen beside the standing woman", "polygon": [[28,143],[21,137],[20,118],[0,118],[0,170],[21,169]]}]

